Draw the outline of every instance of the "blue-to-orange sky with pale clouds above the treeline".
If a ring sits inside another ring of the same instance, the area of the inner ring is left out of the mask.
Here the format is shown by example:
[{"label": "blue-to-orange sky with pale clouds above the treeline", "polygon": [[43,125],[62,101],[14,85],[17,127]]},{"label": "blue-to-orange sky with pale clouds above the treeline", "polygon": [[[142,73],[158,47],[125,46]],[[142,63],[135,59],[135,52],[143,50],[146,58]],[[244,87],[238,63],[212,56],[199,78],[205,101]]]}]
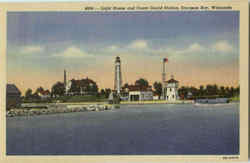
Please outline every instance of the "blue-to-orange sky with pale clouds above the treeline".
[{"label": "blue-to-orange sky with pale clouds above the treeline", "polygon": [[239,83],[239,13],[9,12],[7,79],[24,93],[57,81],[89,77],[114,87],[114,61],[121,57],[123,83],[139,78],[180,85]]}]

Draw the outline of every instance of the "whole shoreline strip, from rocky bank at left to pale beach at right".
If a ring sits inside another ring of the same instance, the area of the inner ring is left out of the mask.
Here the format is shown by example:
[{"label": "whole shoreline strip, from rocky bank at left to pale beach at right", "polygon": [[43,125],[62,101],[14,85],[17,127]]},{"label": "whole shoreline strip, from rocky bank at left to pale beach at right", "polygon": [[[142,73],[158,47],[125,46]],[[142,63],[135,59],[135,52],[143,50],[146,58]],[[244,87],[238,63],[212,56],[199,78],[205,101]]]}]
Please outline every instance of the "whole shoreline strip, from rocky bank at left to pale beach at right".
[{"label": "whole shoreline strip, from rocky bank at left to pale beach at right", "polygon": [[[237,102],[230,102],[237,103]],[[121,101],[120,104],[108,104],[107,102],[78,102],[78,103],[23,103],[21,108],[13,108],[6,111],[7,117],[38,116],[58,113],[105,111],[119,109],[122,105],[152,105],[152,104],[195,104],[194,100],[178,101]],[[202,105],[202,104],[201,104]],[[210,104],[206,104],[210,105]]]}]

